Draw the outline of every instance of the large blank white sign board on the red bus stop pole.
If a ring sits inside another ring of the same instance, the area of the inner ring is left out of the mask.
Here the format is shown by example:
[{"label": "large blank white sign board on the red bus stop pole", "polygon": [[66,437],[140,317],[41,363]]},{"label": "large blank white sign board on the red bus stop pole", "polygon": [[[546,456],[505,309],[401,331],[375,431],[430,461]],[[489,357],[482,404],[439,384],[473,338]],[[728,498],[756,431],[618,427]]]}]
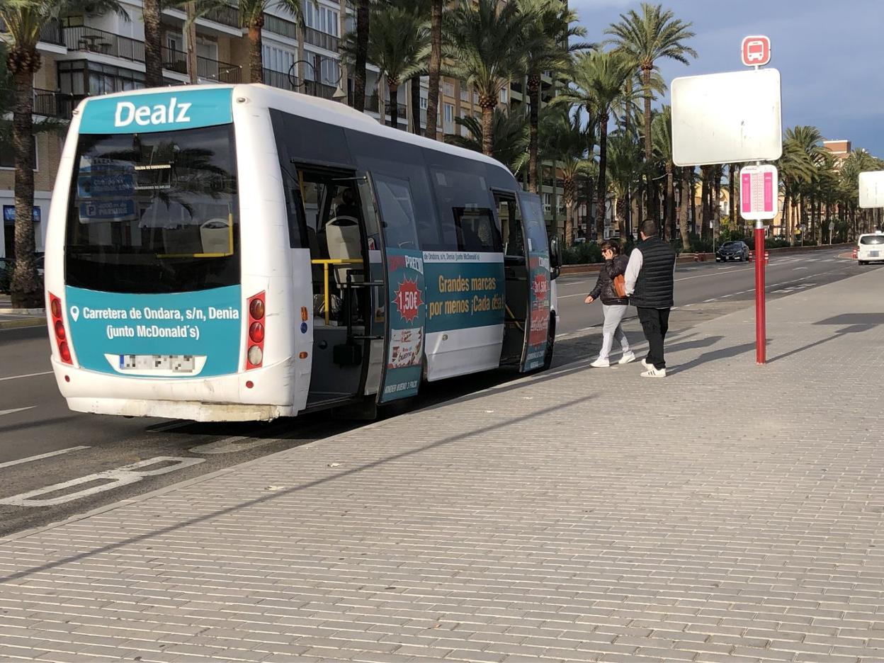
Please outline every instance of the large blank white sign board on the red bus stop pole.
[{"label": "large blank white sign board on the red bus stop pole", "polygon": [[679,166],[773,161],[782,154],[780,72],[672,81],[672,154]]}]

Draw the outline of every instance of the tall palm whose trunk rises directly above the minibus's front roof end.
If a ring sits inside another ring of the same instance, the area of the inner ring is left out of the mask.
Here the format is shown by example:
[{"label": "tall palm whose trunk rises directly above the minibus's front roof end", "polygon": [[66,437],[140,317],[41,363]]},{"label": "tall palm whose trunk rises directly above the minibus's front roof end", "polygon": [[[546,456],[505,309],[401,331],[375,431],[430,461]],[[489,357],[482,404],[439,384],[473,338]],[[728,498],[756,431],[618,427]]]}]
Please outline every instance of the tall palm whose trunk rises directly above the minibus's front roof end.
[{"label": "tall palm whose trunk rises directly above the minibus's front roof end", "polygon": [[527,93],[530,103],[530,165],[528,187],[532,193],[539,190],[537,161],[537,131],[540,122],[540,90],[545,72],[555,79],[571,69],[571,56],[577,50],[594,48],[594,44],[572,42],[574,37],[586,36],[586,28],[571,25],[577,20],[575,11],[560,0],[518,0],[519,11],[526,17],[525,70],[528,74]]}]

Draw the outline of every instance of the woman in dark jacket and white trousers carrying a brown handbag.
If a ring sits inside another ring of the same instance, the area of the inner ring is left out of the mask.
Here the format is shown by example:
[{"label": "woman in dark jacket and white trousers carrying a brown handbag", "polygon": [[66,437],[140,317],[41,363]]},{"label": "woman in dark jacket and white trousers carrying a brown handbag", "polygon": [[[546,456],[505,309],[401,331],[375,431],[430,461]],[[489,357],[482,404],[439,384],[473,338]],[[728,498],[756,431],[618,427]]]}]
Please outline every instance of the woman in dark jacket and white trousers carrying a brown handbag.
[{"label": "woman in dark jacket and white trousers carrying a brown handbag", "polygon": [[626,282],[623,275],[626,273],[626,265],[629,259],[620,253],[620,245],[613,241],[602,244],[602,257],[605,264],[598,271],[598,281],[586,297],[586,303],[591,304],[599,296],[602,300],[602,309],[605,312],[605,324],[602,326],[602,349],[598,353],[598,359],[590,365],[596,369],[606,369],[611,365],[608,355],[611,354],[613,339],[617,339],[623,351],[623,356],[618,363],[634,362],[636,354],[629,349],[629,341],[623,331],[621,321],[629,307],[629,298],[626,296]]}]

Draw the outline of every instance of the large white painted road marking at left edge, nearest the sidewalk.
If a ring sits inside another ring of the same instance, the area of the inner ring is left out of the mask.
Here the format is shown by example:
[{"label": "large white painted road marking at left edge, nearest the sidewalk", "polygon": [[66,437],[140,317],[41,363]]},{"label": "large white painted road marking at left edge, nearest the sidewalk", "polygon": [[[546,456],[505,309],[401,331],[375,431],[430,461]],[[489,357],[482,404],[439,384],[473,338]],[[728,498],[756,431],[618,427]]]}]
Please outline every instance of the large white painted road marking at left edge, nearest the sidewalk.
[{"label": "large white painted road marking at left edge, nearest the sidewalk", "polygon": [[[45,488],[38,488],[35,491],[12,495],[11,497],[0,499],[0,504],[8,504],[11,507],[54,507],[59,504],[65,504],[65,502],[72,502],[74,499],[82,499],[99,492],[110,491],[114,488],[138,483],[145,476],[168,474],[176,469],[189,468],[192,465],[198,465],[205,461],[206,459],[204,458],[172,458],[170,456],[157,456],[156,458],[150,458],[147,461],[124,465],[121,468],[109,469],[105,472],[96,472],[95,474],[90,474],[88,476],[80,476],[79,479],[71,479],[70,481],[64,481],[60,484],[52,484]],[[158,469],[141,469],[149,468],[151,465],[156,465],[160,462],[173,462],[174,464]],[[41,495],[63,491],[65,488],[72,488],[73,486],[82,484],[91,484],[95,481],[104,481],[107,483],[90,486],[81,491],[71,492],[56,498],[40,499]]]}]

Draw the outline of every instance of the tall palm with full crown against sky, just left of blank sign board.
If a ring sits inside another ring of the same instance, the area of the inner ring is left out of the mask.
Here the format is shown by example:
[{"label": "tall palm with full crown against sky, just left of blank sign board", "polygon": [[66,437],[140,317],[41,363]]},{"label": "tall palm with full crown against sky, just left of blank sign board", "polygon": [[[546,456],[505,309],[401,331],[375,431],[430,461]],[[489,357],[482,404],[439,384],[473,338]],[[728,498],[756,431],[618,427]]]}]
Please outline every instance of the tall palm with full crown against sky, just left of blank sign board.
[{"label": "tall palm with full crown against sky, just left of blank sign board", "polygon": [[[676,19],[670,10],[664,10],[662,4],[642,3],[641,13],[630,10],[620,15],[620,22],[606,28],[605,33],[612,35],[608,40],[622,50],[635,62],[642,72],[644,88],[644,161],[647,164],[652,158],[651,138],[651,102],[652,72],[657,69],[657,61],[668,58],[690,64],[688,57],[697,57],[697,51],[685,45],[685,41],[694,36],[690,31],[691,23]],[[651,173],[646,173],[648,208],[657,218],[658,206],[652,201]]]}]

